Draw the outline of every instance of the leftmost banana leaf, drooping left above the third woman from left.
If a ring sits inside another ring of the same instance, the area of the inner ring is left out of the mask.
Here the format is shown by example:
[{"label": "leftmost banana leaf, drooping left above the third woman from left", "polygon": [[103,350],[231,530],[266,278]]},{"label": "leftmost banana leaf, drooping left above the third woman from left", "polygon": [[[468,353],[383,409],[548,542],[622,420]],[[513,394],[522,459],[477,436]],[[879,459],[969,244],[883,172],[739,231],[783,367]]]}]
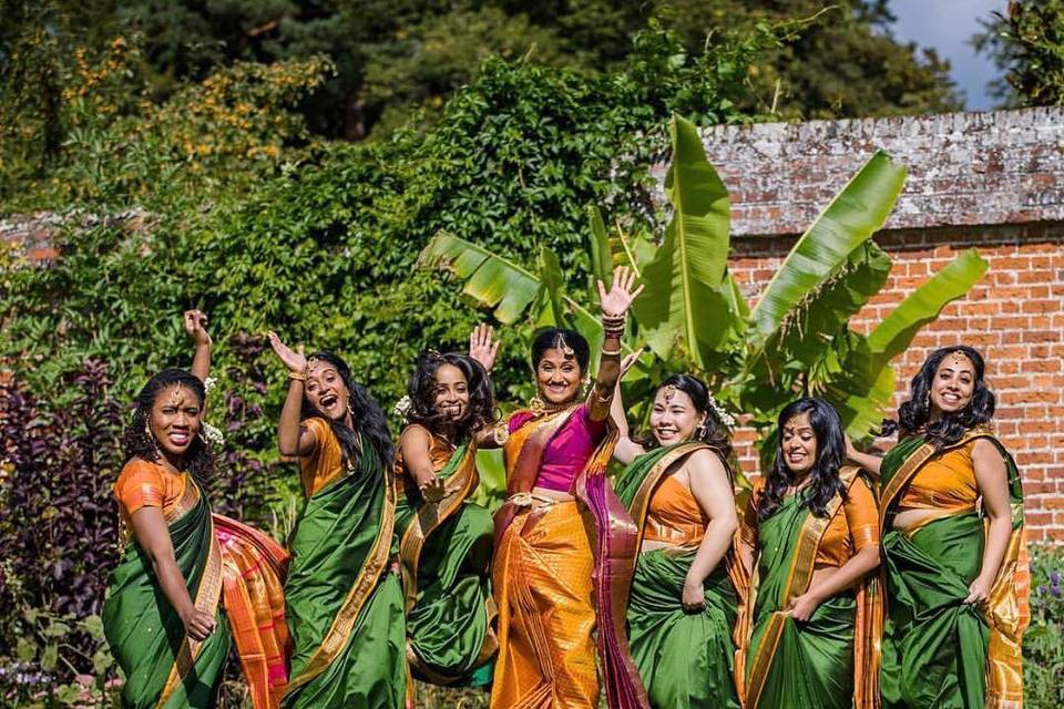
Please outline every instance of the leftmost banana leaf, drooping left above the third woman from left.
[{"label": "leftmost banana leaf, drooping left above the third woman from left", "polygon": [[494,308],[495,318],[505,325],[515,322],[540,291],[540,279],[518,264],[447,232],[432,237],[418,263],[468,279],[462,292]]}]

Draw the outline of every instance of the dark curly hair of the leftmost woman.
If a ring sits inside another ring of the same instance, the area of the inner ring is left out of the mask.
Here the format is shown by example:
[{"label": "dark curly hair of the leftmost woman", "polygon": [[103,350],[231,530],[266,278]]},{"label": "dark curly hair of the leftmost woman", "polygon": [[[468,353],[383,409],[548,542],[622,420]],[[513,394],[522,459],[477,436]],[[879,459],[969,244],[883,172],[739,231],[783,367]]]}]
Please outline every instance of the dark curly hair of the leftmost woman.
[{"label": "dark curly hair of the leftmost woman", "polygon": [[[158,372],[149,379],[141,392],[136,394],[136,408],[133,410],[133,417],[129,425],[125,427],[125,431],[122,432],[122,449],[125,454],[125,462],[130,462],[134,458],[149,463],[158,462],[162,453],[158,451],[158,444],[155,436],[152,435],[147,422],[160,392],[175,384],[180,384],[196,394],[196,399],[200,400],[200,410],[203,411],[207,392],[198,377],[184,369],[164,369]],[[214,452],[203,436],[202,418],[200,419],[200,430],[192,436],[192,443],[185,451],[184,464],[185,470],[201,483],[209,482],[213,476]]]}]

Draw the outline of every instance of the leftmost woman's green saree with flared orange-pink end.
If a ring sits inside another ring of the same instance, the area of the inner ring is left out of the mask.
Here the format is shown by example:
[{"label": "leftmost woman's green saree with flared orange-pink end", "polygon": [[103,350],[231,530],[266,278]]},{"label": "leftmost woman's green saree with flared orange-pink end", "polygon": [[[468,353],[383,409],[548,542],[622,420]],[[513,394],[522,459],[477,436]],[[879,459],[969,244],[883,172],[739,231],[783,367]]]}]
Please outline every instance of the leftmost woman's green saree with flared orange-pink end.
[{"label": "leftmost woman's green saree with flared orange-pink end", "polygon": [[126,677],[122,706],[214,706],[234,640],[253,706],[277,707],[287,684],[284,549],[252,527],[212,515],[194,483],[167,515],[167,528],[188,594],[217,625],[202,643],[187,638],[151,558],[129,544],[109,578],[103,609],[108,643]]}]

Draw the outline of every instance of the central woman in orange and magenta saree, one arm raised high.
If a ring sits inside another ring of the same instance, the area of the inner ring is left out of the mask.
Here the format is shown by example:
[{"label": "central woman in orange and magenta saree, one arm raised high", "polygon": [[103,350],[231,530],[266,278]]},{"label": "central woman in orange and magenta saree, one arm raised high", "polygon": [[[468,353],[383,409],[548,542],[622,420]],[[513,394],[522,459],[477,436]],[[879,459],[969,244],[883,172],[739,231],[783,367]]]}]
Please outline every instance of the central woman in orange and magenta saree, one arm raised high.
[{"label": "central woman in orange and magenta saree, one arm raised high", "polygon": [[596,657],[611,709],[646,707],[624,641],[636,528],[605,474],[634,281],[621,268],[608,292],[598,284],[605,340],[586,397],[587,341],[549,328],[532,342],[538,400],[507,421],[508,496],[495,515],[494,709],[596,709]]}]

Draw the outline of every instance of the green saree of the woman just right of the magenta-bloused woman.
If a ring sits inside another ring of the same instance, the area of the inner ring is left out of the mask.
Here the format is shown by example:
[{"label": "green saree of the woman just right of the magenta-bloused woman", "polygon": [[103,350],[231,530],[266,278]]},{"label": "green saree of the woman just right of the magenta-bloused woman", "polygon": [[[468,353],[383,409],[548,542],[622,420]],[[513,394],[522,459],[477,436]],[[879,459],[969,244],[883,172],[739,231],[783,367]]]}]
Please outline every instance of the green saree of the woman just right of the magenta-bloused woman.
[{"label": "green saree of the woman just right of the magenta-bloused woman", "polygon": [[[617,481],[617,497],[640,530],[651,499],[668,470],[698,450],[697,442],[656,449],[634,460]],[[741,566],[729,551],[704,582],[706,606],[683,607],[684,580],[697,549],[640,553],[628,596],[628,647],[654,709],[739,706],[733,634],[739,606]]]}]

